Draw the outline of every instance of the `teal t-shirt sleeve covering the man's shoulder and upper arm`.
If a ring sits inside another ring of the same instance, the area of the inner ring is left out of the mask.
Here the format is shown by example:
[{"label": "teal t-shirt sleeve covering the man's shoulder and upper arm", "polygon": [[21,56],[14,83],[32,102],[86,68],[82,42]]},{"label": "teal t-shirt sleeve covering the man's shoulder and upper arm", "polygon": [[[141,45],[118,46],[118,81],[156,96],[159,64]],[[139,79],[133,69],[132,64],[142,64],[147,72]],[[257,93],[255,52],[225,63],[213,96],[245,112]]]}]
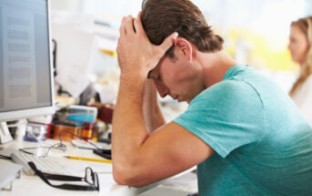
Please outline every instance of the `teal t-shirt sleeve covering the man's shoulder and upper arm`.
[{"label": "teal t-shirt sleeve covering the man's shoulder and upper arm", "polygon": [[231,151],[262,139],[263,110],[255,88],[244,81],[226,80],[199,94],[173,121],[225,158]]}]

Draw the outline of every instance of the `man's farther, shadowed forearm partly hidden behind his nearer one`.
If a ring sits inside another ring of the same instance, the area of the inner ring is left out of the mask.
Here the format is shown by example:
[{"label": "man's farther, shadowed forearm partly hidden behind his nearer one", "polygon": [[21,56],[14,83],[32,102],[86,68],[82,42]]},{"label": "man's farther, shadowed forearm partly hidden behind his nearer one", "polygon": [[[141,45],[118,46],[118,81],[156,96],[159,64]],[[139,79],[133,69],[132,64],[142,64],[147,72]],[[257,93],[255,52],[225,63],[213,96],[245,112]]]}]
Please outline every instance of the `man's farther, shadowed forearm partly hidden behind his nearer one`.
[{"label": "man's farther, shadowed forearm partly hidden behind his nearer one", "polygon": [[156,88],[151,79],[146,80],[143,100],[143,114],[146,122],[146,129],[149,133],[152,133],[157,128],[166,124],[166,120],[159,108]]}]

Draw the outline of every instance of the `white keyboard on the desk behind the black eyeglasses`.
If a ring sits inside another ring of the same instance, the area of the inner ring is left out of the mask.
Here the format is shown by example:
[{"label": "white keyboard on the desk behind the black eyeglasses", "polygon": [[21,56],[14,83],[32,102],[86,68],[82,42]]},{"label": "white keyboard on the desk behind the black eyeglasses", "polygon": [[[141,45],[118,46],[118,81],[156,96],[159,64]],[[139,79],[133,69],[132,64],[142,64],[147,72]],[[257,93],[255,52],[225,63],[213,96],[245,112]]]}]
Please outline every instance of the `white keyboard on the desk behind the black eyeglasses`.
[{"label": "white keyboard on the desk behind the black eyeglasses", "polygon": [[68,170],[65,170],[63,166],[60,166],[57,162],[49,160],[48,158],[40,158],[35,155],[27,154],[22,151],[15,151],[11,154],[11,159],[23,166],[23,171],[26,175],[35,175],[34,170],[32,170],[28,162],[33,161],[35,167],[44,173],[50,174],[60,174],[60,175],[71,175]]}]

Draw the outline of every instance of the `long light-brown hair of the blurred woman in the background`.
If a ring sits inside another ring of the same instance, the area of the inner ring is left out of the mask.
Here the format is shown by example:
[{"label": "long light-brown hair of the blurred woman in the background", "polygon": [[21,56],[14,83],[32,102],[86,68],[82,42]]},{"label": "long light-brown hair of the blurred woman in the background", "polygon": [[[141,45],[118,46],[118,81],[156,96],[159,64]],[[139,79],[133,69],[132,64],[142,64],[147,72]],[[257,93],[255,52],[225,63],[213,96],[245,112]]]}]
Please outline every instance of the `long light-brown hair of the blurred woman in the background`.
[{"label": "long light-brown hair of the blurred woman in the background", "polygon": [[291,23],[291,26],[297,26],[306,36],[308,42],[308,50],[305,57],[305,61],[302,65],[302,70],[297,78],[294,86],[291,88],[289,95],[294,96],[295,92],[300,85],[302,85],[307,77],[312,74],[312,16],[300,18]]}]

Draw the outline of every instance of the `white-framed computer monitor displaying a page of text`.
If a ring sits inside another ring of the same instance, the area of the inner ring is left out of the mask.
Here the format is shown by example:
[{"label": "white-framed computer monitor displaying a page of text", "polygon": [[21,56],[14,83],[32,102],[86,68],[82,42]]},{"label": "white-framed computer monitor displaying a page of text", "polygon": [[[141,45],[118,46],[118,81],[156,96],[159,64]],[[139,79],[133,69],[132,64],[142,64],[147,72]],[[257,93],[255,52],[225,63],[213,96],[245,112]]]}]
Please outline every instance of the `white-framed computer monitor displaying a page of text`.
[{"label": "white-framed computer monitor displaying a page of text", "polygon": [[6,121],[55,111],[49,26],[48,0],[0,0],[0,143]]}]

